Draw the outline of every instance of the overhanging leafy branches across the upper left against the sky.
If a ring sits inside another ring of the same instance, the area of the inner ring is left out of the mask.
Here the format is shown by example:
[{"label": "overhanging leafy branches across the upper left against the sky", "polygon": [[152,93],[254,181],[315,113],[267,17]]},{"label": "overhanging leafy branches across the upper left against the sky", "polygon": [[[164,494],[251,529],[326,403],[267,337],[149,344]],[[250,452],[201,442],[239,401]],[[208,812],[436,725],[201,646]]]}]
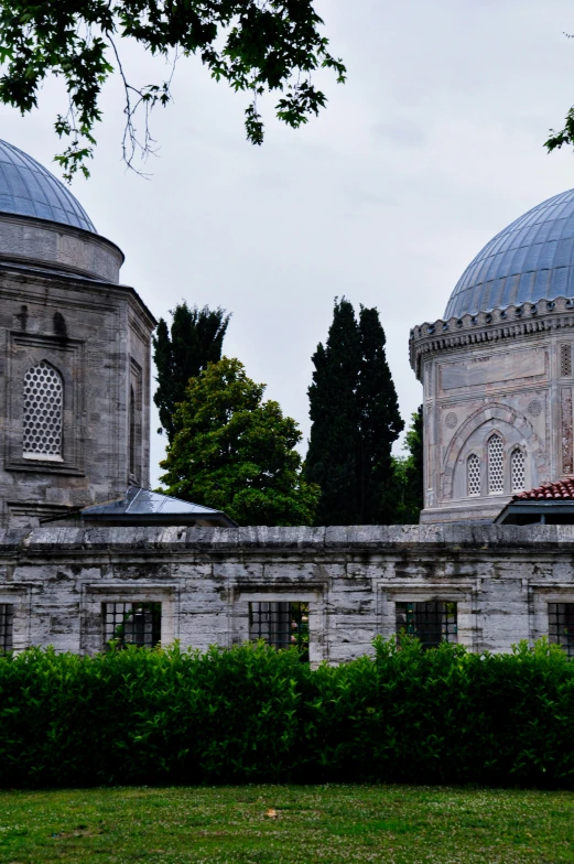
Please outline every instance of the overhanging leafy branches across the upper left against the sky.
[{"label": "overhanging leafy branches across the upper left against the sky", "polygon": [[[123,158],[131,165],[138,151],[152,149],[149,112],[171,101],[177,58],[194,54],[213,78],[249,94],[247,138],[260,144],[258,97],[279,93],[277,117],[296,129],[326,104],[313,83],[315,71],[331,68],[345,80],[345,66],[328,52],[314,7],[313,0],[0,0],[0,102],[25,114],[37,106],[48,75],[63,78],[68,110],[57,116],[55,129],[69,144],[56,160],[67,180],[78,169],[87,176],[101,88],[117,72],[124,89]],[[128,80],[121,62],[124,40],[167,60],[167,78],[144,86]]]}]

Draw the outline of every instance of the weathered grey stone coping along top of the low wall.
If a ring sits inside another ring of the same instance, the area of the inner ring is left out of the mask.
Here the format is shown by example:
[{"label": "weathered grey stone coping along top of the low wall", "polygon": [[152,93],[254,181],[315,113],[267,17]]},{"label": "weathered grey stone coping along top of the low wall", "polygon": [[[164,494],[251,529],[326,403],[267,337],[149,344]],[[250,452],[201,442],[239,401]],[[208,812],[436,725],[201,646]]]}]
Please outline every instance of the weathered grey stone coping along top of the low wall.
[{"label": "weathered grey stone coping along top of the low wall", "polygon": [[470,554],[488,557],[489,550],[500,559],[501,550],[513,550],[531,560],[548,550],[550,557],[564,551],[572,557],[574,526],[529,525],[498,526],[451,522],[416,526],[333,526],[186,528],[185,526],[144,528],[35,528],[0,529],[0,560],[15,561],[102,559],[121,562],[136,559],[163,560],[178,553],[189,561],[225,560],[242,562],[266,555],[308,555],[329,559],[366,552],[381,555],[420,558],[429,551],[433,557]]}]

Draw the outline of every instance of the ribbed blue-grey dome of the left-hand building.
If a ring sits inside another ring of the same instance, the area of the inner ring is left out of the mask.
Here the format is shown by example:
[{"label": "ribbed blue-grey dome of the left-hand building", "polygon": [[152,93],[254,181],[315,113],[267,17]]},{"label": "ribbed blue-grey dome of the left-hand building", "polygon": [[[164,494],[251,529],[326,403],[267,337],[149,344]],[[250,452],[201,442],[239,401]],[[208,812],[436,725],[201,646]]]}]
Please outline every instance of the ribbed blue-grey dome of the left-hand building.
[{"label": "ribbed blue-grey dome of the left-hand building", "polygon": [[0,213],[32,216],[97,234],[86,210],[50,171],[0,141]]}]

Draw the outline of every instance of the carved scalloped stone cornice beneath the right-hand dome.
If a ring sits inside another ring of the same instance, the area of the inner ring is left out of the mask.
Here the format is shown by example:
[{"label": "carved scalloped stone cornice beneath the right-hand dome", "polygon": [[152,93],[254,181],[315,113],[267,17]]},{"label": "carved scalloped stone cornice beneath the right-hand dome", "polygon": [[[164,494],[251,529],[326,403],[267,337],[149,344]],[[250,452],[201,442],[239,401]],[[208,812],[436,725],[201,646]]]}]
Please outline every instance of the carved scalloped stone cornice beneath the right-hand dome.
[{"label": "carved scalloped stone cornice beneath the right-hand dome", "polygon": [[420,324],[411,330],[409,357],[416,378],[421,380],[421,363],[427,354],[568,327],[574,327],[574,298],[539,300],[448,321],[438,318],[434,324]]}]

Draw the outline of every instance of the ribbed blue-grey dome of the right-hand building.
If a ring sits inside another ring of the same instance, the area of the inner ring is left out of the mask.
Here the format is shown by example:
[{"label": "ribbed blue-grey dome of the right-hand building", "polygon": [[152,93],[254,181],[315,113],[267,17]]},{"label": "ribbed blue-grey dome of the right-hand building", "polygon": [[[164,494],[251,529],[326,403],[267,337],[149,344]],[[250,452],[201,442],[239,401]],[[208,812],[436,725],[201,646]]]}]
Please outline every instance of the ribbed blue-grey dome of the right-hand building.
[{"label": "ribbed blue-grey dome of the right-hand building", "polygon": [[497,234],[458,280],[444,318],[557,296],[574,296],[574,190]]}]

